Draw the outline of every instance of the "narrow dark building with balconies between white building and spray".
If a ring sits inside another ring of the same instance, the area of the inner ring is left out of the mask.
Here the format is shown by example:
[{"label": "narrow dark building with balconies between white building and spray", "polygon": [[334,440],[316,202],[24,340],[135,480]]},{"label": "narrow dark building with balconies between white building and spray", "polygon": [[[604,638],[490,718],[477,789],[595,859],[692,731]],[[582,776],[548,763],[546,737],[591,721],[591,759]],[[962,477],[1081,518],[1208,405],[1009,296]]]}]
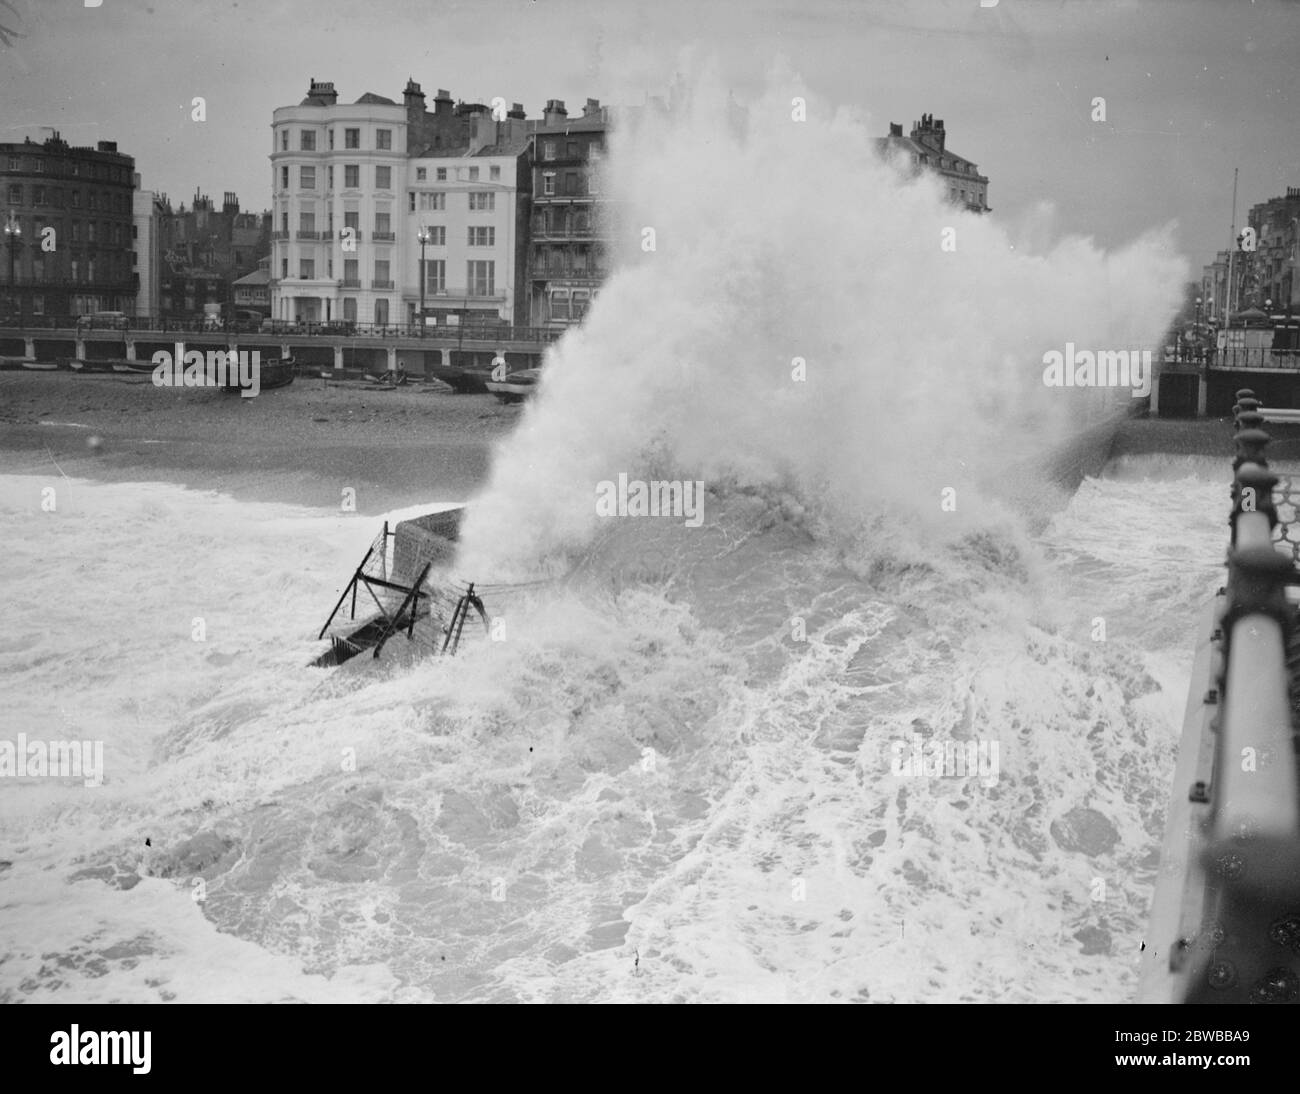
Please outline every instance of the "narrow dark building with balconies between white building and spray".
[{"label": "narrow dark building with balconies between white building and spray", "polygon": [[546,104],[532,138],[532,231],[528,252],[530,325],[582,321],[608,273],[599,160],[610,110],[588,99],[568,117],[563,100]]}]

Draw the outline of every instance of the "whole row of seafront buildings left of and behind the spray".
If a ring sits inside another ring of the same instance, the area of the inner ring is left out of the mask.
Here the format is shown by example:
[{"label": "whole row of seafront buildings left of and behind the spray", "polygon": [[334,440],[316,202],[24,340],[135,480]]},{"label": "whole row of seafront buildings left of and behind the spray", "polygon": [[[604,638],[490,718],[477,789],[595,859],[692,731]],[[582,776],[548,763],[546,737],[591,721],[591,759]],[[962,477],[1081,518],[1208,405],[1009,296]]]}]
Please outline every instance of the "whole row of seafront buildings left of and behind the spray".
[{"label": "whole row of seafront buildings left of and behind the spray", "polygon": [[[313,79],[272,114],[260,214],[229,192],[220,209],[200,192],[173,209],[112,142],[0,144],[12,262],[0,312],[192,317],[221,304],[396,326],[420,322],[422,304],[434,327],[577,324],[608,273],[598,165],[615,121],[595,99],[575,116],[552,99],[533,120],[519,103],[443,90],[429,104],[413,79],[402,103],[341,104]],[[878,143],[939,174],[954,204],[988,212],[988,178],[945,138],[924,114]],[[57,246],[43,248],[47,229]]]}]

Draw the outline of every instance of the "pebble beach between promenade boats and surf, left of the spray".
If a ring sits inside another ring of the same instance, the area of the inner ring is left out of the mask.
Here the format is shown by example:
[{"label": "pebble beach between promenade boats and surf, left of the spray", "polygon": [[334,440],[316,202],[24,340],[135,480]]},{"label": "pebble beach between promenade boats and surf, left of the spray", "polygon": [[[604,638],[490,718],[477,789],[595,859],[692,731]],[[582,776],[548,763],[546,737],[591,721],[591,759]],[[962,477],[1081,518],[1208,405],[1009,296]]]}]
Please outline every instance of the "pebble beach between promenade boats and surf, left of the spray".
[{"label": "pebble beach between promenade boats and surf, left of the spray", "polygon": [[464,500],[519,420],[491,395],[299,377],[243,399],[148,375],[0,373],[0,469],[170,482],[237,499],[359,513]]}]

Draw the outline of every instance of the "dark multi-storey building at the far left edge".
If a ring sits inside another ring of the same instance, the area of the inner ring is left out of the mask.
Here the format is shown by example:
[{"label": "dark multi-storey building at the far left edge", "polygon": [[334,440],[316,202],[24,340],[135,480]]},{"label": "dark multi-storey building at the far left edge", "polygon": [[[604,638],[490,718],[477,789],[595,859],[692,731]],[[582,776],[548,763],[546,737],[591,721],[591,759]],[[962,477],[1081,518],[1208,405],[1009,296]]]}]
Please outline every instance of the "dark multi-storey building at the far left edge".
[{"label": "dark multi-storey building at the far left edge", "polygon": [[55,133],[0,144],[0,312],[134,311],[134,160],[116,142],[74,148]]}]

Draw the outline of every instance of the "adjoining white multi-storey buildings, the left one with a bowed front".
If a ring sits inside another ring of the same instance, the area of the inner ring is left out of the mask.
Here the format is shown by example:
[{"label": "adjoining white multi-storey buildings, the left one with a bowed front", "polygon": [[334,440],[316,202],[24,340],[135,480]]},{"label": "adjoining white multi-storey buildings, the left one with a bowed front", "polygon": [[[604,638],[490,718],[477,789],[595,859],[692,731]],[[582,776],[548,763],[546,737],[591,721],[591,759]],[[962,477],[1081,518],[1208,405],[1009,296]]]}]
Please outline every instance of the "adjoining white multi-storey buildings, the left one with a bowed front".
[{"label": "adjoining white multi-storey buildings, the left one with a bowed front", "polygon": [[299,105],[273,112],[274,318],[416,324],[428,229],[430,325],[525,321],[523,108],[506,117],[480,104],[452,109],[439,91],[429,113],[413,81],[404,97],[339,105],[333,83],[312,81]]}]

